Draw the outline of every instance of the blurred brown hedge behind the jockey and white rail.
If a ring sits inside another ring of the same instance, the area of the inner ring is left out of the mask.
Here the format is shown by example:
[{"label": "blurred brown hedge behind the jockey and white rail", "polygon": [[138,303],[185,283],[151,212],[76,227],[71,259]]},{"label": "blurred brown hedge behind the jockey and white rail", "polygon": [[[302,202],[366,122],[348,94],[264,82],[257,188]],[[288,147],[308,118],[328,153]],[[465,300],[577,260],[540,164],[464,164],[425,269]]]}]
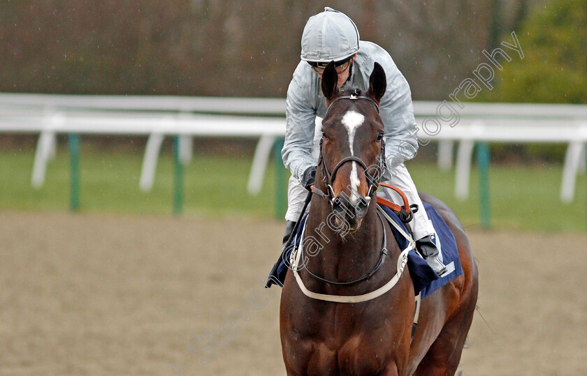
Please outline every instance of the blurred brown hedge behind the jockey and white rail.
[{"label": "blurred brown hedge behind the jockey and white rail", "polygon": [[[414,99],[442,100],[484,58],[495,27],[514,24],[518,3],[328,5],[390,52]],[[305,22],[323,9],[310,0],[1,1],[0,91],[284,97]]]}]

